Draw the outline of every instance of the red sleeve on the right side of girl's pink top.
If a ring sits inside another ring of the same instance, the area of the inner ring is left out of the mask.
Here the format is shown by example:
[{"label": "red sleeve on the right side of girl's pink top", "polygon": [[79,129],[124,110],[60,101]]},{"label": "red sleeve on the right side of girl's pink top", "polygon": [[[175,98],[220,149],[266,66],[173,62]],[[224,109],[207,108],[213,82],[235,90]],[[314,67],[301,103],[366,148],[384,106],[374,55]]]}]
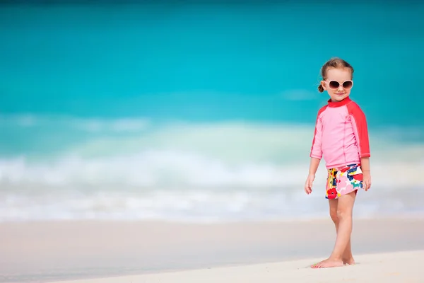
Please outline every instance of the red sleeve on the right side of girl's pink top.
[{"label": "red sleeve on the right side of girl's pink top", "polygon": [[353,132],[358,143],[359,157],[370,157],[370,141],[368,139],[367,119],[365,113],[356,103],[348,104],[348,112],[351,115]]}]

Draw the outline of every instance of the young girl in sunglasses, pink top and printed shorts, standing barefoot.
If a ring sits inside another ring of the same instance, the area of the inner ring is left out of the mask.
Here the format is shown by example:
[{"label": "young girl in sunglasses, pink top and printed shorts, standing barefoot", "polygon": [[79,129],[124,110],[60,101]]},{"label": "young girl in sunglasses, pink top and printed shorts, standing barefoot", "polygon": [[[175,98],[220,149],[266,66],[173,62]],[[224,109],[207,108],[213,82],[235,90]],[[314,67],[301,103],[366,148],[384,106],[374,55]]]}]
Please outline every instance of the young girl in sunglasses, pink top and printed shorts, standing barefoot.
[{"label": "young girl in sunglasses, pink top and printed shorts, standing barefoot", "polygon": [[328,171],[326,198],[331,220],[336,226],[336,244],[330,257],[312,268],[353,265],[351,251],[352,212],[358,188],[371,187],[370,144],[364,112],[349,95],[353,86],[353,67],[340,58],[331,58],[321,69],[319,92],[330,96],[317,115],[310,171],[305,183],[312,193],[319,161],[324,158]]}]

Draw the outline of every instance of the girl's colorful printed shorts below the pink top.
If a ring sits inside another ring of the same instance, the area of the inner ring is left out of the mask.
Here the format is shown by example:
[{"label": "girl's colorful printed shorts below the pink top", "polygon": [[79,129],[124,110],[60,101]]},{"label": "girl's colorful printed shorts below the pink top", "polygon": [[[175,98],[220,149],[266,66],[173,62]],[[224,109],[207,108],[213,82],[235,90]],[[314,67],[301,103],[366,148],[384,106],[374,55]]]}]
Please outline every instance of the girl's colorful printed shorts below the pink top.
[{"label": "girl's colorful printed shorts below the pink top", "polygon": [[360,164],[328,169],[326,199],[334,200],[349,192],[358,192],[363,187],[363,172]]}]

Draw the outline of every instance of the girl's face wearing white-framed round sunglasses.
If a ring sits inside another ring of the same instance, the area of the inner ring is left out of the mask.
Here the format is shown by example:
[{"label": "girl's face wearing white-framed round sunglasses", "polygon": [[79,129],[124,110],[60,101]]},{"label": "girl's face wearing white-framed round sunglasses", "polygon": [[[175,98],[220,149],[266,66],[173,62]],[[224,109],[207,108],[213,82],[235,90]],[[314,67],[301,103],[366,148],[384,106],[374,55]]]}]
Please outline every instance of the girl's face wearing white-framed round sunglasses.
[{"label": "girl's face wearing white-framed round sunglasses", "polygon": [[[351,83],[352,74],[351,70],[348,68],[331,68],[327,70],[327,79],[325,81],[321,81],[321,85],[324,90],[329,93],[331,101],[337,102],[341,101],[351,94],[351,87],[353,83]],[[333,81],[332,83],[330,83]],[[334,88],[338,82],[338,87]]]}]

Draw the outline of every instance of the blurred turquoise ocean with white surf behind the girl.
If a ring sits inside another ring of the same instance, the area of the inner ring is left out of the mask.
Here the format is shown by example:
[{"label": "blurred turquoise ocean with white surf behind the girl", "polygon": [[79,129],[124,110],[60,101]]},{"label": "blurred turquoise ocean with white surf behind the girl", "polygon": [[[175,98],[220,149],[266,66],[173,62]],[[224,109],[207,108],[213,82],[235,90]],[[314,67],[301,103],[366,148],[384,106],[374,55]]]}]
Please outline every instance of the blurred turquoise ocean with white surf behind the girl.
[{"label": "blurred turquoise ocean with white surf behind the girl", "polygon": [[326,217],[308,172],[355,68],[372,189],[358,217],[423,215],[420,1],[20,1],[0,6],[0,221]]}]

